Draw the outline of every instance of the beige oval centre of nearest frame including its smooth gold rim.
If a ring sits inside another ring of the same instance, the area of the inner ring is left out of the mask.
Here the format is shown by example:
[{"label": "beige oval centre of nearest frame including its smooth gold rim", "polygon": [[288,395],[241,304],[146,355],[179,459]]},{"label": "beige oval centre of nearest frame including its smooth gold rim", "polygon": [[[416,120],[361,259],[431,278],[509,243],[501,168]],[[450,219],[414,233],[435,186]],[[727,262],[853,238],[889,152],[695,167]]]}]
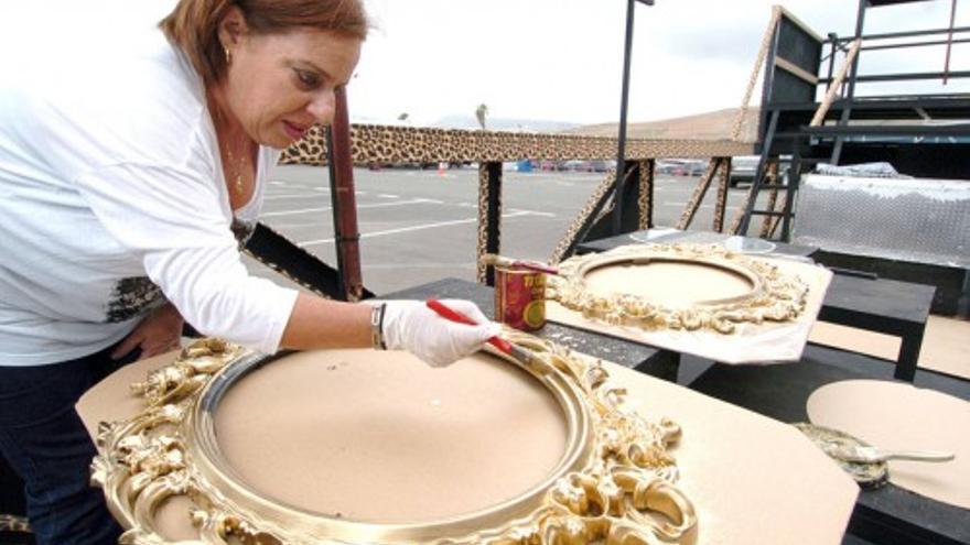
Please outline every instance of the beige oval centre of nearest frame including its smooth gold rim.
[{"label": "beige oval centre of nearest frame including its smooth gold rim", "polygon": [[370,349],[241,358],[190,422],[195,467],[226,500],[349,542],[527,516],[593,448],[580,390],[489,352],[446,369]]}]

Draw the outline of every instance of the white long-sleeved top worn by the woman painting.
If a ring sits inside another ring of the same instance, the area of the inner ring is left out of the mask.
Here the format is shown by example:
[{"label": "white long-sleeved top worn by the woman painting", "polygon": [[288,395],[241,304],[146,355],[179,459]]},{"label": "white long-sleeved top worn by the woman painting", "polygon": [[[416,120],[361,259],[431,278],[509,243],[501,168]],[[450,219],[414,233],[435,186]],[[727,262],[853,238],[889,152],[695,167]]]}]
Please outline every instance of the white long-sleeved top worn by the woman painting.
[{"label": "white long-sleeved top worn by the woman painting", "polygon": [[[297,292],[242,265],[201,79],[160,31],[115,45],[0,53],[0,366],[100,350],[164,298],[204,335],[274,351]],[[260,150],[236,227],[276,156]]]}]

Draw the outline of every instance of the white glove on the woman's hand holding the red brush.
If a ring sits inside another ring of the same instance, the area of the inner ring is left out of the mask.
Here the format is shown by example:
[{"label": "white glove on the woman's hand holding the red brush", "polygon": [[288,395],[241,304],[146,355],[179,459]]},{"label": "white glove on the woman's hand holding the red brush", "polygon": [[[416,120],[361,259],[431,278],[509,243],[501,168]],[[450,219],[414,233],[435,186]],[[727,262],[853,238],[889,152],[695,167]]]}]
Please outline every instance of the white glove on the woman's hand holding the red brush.
[{"label": "white glove on the woman's hand holding the red brush", "polygon": [[407,350],[431,367],[445,367],[478,350],[502,326],[482,314],[471,301],[443,299],[477,326],[442,318],[420,301],[385,302],[381,338],[388,350]]}]

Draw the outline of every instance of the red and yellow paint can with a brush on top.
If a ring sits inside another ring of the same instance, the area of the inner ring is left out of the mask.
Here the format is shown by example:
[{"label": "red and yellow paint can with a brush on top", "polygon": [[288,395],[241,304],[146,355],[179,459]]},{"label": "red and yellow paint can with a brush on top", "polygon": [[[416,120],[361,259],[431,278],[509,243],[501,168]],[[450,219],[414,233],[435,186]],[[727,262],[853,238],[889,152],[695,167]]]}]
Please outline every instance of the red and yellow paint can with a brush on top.
[{"label": "red and yellow paint can with a brush on top", "polygon": [[520,331],[546,325],[546,274],[495,268],[495,320]]}]

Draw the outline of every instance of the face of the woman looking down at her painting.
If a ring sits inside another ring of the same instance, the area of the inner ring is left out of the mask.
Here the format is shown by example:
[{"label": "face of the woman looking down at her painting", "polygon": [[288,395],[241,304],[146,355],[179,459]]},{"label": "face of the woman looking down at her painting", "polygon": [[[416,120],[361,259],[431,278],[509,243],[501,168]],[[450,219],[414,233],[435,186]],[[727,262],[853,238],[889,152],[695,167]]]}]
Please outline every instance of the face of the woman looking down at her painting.
[{"label": "face of the woman looking down at her painting", "polygon": [[249,138],[277,149],[315,123],[330,124],[334,88],[347,84],[360,56],[360,40],[310,28],[223,43],[231,55],[225,106]]}]

